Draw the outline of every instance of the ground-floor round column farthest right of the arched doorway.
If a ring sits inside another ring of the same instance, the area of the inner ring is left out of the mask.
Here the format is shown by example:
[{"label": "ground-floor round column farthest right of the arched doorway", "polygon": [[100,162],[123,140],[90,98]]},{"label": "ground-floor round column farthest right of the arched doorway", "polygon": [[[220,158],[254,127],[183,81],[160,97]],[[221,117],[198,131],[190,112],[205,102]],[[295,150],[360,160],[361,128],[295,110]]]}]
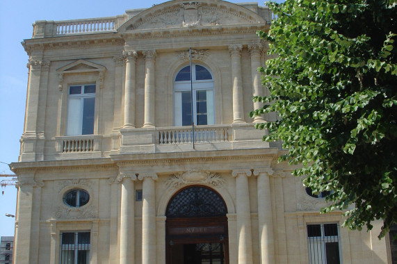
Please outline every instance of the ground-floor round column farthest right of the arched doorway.
[{"label": "ground-floor round column farthest right of the arched doorway", "polygon": [[258,176],[258,224],[261,264],[275,263],[273,212],[269,181],[269,176],[272,174],[273,170],[270,168],[260,168],[254,170],[254,175]]}]

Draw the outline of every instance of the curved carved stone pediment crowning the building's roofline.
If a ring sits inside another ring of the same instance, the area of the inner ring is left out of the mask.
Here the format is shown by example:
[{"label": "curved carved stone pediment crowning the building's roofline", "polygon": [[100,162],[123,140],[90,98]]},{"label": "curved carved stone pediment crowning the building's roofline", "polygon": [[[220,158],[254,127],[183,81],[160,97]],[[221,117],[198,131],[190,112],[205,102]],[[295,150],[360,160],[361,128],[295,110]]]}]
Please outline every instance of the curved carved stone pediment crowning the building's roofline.
[{"label": "curved carved stone pediment crowning the building's roofline", "polygon": [[266,24],[266,20],[252,10],[226,1],[174,0],[148,8],[122,24],[118,31],[242,24]]}]

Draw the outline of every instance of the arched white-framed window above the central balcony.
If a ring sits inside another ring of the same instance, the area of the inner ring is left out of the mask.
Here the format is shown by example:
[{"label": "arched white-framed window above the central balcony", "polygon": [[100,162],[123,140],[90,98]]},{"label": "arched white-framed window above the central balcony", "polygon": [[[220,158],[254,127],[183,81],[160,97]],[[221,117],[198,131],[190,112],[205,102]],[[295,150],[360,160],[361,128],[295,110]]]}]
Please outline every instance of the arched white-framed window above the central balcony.
[{"label": "arched white-framed window above the central balcony", "polygon": [[[193,122],[197,125],[215,124],[213,100],[213,77],[202,65],[192,65],[193,76]],[[174,124],[192,124],[191,67],[183,67],[174,79]]]}]

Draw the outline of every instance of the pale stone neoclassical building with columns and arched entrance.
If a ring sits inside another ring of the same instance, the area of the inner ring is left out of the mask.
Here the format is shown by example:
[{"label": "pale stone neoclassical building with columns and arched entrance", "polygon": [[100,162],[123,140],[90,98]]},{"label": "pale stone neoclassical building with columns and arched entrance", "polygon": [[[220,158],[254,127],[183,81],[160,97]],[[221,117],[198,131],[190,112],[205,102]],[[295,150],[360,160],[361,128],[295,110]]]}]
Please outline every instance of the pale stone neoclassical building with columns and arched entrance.
[{"label": "pale stone neoclassical building with columns and arched entrance", "polygon": [[249,117],[271,17],[175,0],[35,22],[15,263],[387,263],[380,224],[319,214],[326,194],[254,129],[276,118]]}]

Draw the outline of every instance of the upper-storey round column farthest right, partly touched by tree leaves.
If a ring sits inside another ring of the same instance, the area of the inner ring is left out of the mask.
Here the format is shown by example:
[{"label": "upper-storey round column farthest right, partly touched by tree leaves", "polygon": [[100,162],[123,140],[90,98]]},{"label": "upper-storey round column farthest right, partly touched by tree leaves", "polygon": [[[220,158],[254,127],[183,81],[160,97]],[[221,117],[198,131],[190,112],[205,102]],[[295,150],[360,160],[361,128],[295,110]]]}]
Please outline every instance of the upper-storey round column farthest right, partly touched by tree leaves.
[{"label": "upper-storey round column farthest right, partly touched by tree leaves", "polygon": [[[252,94],[254,97],[263,97],[264,89],[261,83],[261,73],[258,72],[258,68],[261,67],[261,52],[263,49],[262,44],[251,44],[248,45],[251,55],[251,80],[252,80]],[[259,101],[254,102],[254,110],[262,108],[264,104]],[[254,123],[265,122],[263,116],[259,115],[254,117]]]}]

